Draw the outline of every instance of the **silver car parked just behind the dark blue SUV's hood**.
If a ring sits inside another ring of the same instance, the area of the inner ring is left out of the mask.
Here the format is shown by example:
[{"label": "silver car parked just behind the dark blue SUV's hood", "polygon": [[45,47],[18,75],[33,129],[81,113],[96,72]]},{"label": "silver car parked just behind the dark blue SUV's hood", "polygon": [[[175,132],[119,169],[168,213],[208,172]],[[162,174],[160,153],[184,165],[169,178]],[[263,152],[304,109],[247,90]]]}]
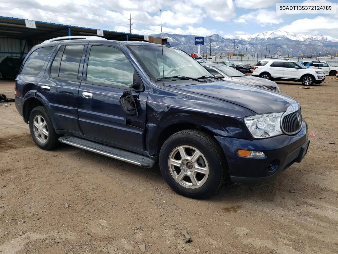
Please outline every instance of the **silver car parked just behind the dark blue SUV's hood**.
[{"label": "silver car parked just behind the dark blue SUV's hood", "polygon": [[267,79],[261,79],[258,77],[247,76],[242,72],[224,64],[201,63],[201,65],[215,77],[223,78],[226,81],[231,81],[238,84],[258,86],[276,92],[280,91],[276,82]]}]

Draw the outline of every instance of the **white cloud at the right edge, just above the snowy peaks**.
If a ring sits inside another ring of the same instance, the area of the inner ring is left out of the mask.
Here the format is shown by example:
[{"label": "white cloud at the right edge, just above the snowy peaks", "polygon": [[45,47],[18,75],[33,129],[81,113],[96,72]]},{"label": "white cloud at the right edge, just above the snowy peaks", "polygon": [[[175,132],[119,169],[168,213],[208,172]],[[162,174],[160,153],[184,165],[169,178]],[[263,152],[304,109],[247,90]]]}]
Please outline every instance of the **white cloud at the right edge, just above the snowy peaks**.
[{"label": "white cloud at the right edge, just above the snowy peaks", "polygon": [[323,16],[318,16],[314,19],[298,19],[290,25],[281,27],[281,29],[295,34],[309,33],[312,35],[323,35],[332,33],[338,35],[338,20]]}]

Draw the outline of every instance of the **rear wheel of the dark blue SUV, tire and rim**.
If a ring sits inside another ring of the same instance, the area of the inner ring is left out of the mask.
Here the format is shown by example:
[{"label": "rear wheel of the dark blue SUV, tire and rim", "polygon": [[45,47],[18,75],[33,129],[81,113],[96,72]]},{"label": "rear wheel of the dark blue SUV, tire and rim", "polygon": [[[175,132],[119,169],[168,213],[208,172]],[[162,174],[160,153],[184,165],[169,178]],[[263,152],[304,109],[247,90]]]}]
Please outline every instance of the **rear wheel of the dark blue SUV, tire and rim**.
[{"label": "rear wheel of the dark blue SUV, tire and rim", "polygon": [[34,108],[29,115],[29,130],[38,147],[44,150],[56,148],[59,135],[56,134],[52,120],[47,110],[42,107]]}]

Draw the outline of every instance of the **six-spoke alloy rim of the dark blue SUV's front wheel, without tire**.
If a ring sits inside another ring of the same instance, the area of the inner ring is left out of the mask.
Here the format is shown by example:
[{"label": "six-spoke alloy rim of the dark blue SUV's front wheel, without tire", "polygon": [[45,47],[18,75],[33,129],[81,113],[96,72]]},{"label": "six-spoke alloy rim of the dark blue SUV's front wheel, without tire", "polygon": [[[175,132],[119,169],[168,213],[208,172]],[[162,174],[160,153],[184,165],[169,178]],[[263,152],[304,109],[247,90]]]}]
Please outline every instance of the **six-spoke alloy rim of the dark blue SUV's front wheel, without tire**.
[{"label": "six-spoke alloy rim of the dark blue SUV's front wheel, without tire", "polygon": [[172,177],[186,188],[199,188],[208,179],[209,165],[206,157],[195,147],[176,147],[169,155],[168,164]]}]

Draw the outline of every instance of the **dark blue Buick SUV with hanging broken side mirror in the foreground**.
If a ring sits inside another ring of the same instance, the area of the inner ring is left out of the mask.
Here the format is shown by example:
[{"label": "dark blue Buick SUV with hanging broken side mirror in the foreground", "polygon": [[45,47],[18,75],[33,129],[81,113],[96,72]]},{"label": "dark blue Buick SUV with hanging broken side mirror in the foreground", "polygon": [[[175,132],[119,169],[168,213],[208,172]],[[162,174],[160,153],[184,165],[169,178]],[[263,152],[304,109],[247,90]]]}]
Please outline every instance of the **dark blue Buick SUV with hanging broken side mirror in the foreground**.
[{"label": "dark blue Buick SUV with hanging broken side mirror in the foreground", "polygon": [[65,143],[141,167],[206,198],[225,179],[256,183],[305,156],[296,100],[213,77],[182,50],[99,37],[34,46],[15,81],[34,142]]}]

